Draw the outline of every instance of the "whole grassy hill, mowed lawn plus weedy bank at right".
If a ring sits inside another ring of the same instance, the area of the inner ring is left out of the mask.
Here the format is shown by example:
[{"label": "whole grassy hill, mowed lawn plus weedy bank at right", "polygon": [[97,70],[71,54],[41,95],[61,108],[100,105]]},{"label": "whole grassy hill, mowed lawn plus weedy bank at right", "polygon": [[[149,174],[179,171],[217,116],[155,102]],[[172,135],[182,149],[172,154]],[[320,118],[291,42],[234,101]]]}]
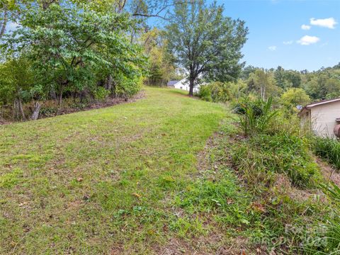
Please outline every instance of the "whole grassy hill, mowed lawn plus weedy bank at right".
[{"label": "whole grassy hill, mowed lawn plus weedy bank at right", "polygon": [[290,123],[244,137],[234,117],[146,88],[133,103],[0,126],[0,254],[337,252],[338,209],[319,184],[340,175]]}]

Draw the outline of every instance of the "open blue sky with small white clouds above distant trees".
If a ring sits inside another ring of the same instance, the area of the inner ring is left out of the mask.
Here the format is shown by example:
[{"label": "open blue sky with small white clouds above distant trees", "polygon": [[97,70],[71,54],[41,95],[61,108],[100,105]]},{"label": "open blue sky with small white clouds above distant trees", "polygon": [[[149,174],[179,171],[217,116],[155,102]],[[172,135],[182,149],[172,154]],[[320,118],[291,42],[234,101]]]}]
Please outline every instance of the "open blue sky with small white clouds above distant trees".
[{"label": "open blue sky with small white clouds above distant trees", "polygon": [[243,49],[246,64],[312,71],[340,62],[340,0],[217,3],[224,4],[226,16],[246,21],[249,28],[249,40]]}]

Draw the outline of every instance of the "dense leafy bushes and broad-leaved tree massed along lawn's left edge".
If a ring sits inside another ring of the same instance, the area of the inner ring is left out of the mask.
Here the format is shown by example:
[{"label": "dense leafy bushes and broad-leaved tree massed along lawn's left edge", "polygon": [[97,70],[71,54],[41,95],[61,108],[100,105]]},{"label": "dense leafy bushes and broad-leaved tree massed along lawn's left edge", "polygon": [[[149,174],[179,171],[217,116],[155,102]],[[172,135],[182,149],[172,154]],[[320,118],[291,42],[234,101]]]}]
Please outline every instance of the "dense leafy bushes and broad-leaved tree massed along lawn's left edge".
[{"label": "dense leafy bushes and broad-leaved tree massed along lawn's left edge", "polygon": [[73,1],[21,7],[21,26],[0,42],[0,106],[12,105],[13,118],[26,119],[24,103],[40,109],[55,100],[61,108],[64,98],[101,101],[139,91],[146,61],[126,36],[135,26],[126,13]]}]

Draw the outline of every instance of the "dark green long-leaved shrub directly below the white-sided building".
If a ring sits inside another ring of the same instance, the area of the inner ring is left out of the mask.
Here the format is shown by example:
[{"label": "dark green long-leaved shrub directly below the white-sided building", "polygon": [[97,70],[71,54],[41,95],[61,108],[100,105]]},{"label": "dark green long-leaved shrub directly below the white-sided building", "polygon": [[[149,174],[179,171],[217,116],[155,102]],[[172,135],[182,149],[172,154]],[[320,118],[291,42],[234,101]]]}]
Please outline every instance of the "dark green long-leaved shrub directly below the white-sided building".
[{"label": "dark green long-leaved shrub directly below the white-sided building", "polygon": [[315,154],[340,169],[340,142],[331,138],[313,137],[312,148]]}]

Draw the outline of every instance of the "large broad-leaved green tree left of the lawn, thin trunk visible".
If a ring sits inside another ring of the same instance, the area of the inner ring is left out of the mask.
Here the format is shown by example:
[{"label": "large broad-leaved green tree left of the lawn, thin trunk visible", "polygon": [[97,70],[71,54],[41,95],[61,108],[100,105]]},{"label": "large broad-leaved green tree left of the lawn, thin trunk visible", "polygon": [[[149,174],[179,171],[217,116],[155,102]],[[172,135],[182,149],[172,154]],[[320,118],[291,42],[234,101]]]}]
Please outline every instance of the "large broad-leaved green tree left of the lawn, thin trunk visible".
[{"label": "large broad-leaved green tree left of the lawn, thin trunk visible", "polygon": [[20,55],[29,48],[28,57],[39,74],[37,83],[52,86],[60,104],[64,91],[84,91],[85,87],[96,86],[97,74],[131,80],[142,74],[140,47],[132,45],[125,36],[132,26],[128,15],[57,2],[28,8],[21,28],[8,36],[6,50]]}]

